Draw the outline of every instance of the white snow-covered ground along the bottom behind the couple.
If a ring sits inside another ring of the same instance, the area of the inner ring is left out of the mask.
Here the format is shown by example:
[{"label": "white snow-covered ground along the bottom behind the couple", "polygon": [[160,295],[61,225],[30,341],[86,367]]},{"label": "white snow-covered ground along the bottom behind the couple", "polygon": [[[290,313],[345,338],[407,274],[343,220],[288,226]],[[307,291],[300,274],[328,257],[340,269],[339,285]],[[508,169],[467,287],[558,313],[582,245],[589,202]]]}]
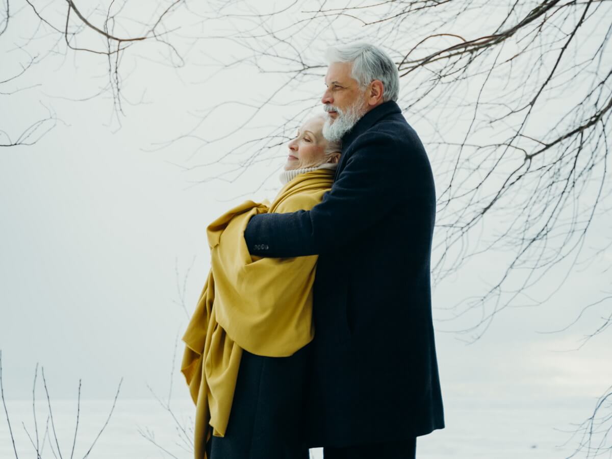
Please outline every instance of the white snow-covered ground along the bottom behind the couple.
[{"label": "white snow-covered ground along the bottom behind the couple", "polygon": [[[494,400],[493,397],[446,397],[447,428],[417,441],[417,457],[422,459],[551,459],[571,455],[574,441],[567,431],[588,416],[594,404],[592,398],[515,397],[513,400]],[[47,419],[46,400],[37,401],[39,435],[43,436]],[[82,458],[108,416],[112,400],[81,401],[80,421],[74,457]],[[70,457],[76,419],[76,400],[51,401],[53,422],[58,434],[62,457]],[[190,425],[193,406],[189,400],[171,403],[178,419]],[[25,424],[34,435],[31,400],[7,401],[12,429],[20,457],[35,457]],[[51,423],[49,424],[51,428]],[[139,433],[149,431],[163,452]],[[54,447],[55,444],[53,444]],[[53,457],[45,445],[43,458]],[[89,458],[191,459],[190,452],[181,447],[176,424],[157,401],[119,400],[108,426],[98,439]],[[0,458],[14,457],[12,443],[4,416],[0,422]],[[313,459],[321,459],[320,449],[312,450]],[[580,457],[580,455],[578,455]]]}]

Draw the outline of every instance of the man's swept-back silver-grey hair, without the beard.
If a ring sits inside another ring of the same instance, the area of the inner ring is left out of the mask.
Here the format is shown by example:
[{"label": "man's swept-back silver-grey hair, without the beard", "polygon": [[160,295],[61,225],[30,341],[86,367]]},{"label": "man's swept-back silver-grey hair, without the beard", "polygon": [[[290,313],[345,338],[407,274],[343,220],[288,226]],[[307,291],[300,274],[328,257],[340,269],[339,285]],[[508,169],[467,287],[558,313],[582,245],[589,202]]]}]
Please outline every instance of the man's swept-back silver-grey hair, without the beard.
[{"label": "man's swept-back silver-grey hair, without the beard", "polygon": [[353,62],[351,76],[362,88],[372,80],[383,82],[383,102],[397,100],[400,93],[400,75],[389,54],[370,43],[353,43],[327,48],[328,64]]}]

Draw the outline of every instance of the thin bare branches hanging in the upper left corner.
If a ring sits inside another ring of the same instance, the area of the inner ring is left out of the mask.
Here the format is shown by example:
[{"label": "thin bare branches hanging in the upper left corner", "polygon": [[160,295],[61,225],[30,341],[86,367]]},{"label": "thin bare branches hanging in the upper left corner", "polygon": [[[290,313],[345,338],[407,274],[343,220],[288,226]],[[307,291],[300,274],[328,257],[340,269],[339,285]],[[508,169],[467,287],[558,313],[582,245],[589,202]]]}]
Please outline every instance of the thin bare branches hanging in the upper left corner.
[{"label": "thin bare branches hanging in the upper left corner", "polygon": [[[3,0],[0,12],[0,40],[6,39],[6,32],[9,23],[15,19],[13,13],[14,0]],[[166,22],[181,4],[182,0],[173,0],[170,3],[160,2],[149,4],[154,7],[152,19],[143,22],[138,18],[142,7],[129,5],[127,1],[119,2],[109,0],[106,4],[91,4],[83,2],[77,5],[72,0],[52,0],[42,2],[40,0],[24,0],[24,6],[19,9],[23,17],[26,13],[31,13],[39,21],[31,37],[19,37],[15,43],[17,49],[28,54],[27,62],[21,64],[21,70],[13,75],[3,75],[0,69],[0,97],[9,97],[16,92],[31,89],[40,84],[26,86],[24,88],[13,89],[15,84],[23,80],[26,73],[31,74],[34,65],[39,64],[43,59],[53,55],[73,56],[90,54],[104,59],[106,65],[107,81],[102,88],[88,100],[102,94],[110,93],[113,100],[114,114],[119,124],[120,114],[124,114],[124,102],[129,102],[122,93],[124,76],[120,71],[121,60],[124,54],[136,43],[154,42],[162,45],[163,50],[168,50],[165,58],[166,65],[179,67],[184,64],[181,55],[169,40],[168,35],[174,31],[169,29]],[[136,9],[132,13],[131,9]],[[133,24],[136,26],[133,26]],[[17,26],[18,24],[15,24]],[[132,29],[137,29],[132,32]],[[10,38],[9,38],[10,40]],[[28,46],[34,42],[48,43],[48,50],[34,55],[28,52]],[[7,42],[10,43],[10,42]],[[28,72],[29,71],[29,72]],[[4,89],[9,88],[9,89]],[[6,128],[0,126],[0,146],[31,146],[42,138],[56,125],[58,118],[53,109],[43,104],[47,111],[45,118],[39,119],[26,127],[19,135],[11,136]]]}]

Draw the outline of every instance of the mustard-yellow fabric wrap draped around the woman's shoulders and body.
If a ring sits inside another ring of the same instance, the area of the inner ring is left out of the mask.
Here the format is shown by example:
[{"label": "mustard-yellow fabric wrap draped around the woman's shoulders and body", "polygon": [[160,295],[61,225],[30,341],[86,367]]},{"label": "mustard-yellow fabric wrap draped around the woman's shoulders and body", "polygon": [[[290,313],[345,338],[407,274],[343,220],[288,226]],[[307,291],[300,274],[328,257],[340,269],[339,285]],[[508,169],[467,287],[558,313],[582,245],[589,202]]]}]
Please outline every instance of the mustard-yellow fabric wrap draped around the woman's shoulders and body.
[{"label": "mustard-yellow fabric wrap draped around the woman's shoulders and body", "polygon": [[317,256],[251,256],[244,241],[248,220],[266,212],[312,209],[333,179],[334,171],[327,169],[299,174],[271,204],[245,201],[207,227],[211,271],[182,338],[181,371],[196,405],[195,459],[206,459],[209,425],[212,435],[225,435],[242,349],[285,357],[313,338]]}]

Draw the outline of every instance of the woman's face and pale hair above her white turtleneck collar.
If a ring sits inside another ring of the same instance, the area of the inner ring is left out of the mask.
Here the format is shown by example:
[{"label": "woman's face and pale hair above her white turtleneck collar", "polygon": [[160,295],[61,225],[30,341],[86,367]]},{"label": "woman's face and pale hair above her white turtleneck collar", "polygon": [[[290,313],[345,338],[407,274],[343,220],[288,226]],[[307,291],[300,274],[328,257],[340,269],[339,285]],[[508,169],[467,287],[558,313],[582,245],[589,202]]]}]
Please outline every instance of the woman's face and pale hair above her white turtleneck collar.
[{"label": "woman's face and pale hair above her white turtleneck collar", "polygon": [[289,155],[285,170],[316,167],[326,162],[337,163],[340,153],[325,154],[327,140],[323,137],[322,117],[311,118],[297,131],[289,142]]}]

